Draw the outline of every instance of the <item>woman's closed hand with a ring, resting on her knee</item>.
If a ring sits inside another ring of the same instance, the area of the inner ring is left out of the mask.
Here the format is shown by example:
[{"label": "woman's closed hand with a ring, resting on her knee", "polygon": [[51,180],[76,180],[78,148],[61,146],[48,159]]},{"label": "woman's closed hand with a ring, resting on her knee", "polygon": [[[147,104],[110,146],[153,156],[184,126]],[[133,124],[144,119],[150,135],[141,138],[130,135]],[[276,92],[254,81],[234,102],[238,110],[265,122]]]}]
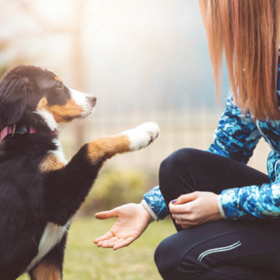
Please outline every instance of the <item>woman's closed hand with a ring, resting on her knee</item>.
[{"label": "woman's closed hand with a ring, resting on her knee", "polygon": [[209,192],[181,195],[174,203],[170,202],[169,210],[183,229],[223,218],[218,209],[218,195]]}]

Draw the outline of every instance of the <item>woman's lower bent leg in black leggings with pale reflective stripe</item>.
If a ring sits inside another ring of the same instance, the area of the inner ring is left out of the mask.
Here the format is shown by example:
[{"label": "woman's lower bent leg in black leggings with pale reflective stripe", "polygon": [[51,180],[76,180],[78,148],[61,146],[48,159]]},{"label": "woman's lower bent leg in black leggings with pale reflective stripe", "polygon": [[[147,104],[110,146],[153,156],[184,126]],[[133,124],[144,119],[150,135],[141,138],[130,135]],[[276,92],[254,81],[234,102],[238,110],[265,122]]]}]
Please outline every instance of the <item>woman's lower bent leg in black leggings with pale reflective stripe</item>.
[{"label": "woman's lower bent leg in black leggings with pale reflective stripe", "polygon": [[155,251],[163,279],[279,279],[280,221],[215,221],[172,235]]}]

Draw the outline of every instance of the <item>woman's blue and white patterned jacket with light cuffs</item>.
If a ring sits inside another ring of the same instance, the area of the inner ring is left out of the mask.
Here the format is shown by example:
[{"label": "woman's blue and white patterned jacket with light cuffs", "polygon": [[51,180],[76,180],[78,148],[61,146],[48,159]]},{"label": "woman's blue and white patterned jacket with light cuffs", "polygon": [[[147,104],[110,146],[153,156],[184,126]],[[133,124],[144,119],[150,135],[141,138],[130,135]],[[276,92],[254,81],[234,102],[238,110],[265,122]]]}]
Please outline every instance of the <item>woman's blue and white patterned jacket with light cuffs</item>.
[{"label": "woman's blue and white patterned jacket with light cuffs", "polygon": [[[280,78],[277,86],[278,97],[279,85]],[[261,137],[272,149],[267,158],[270,183],[223,190],[219,199],[221,213],[225,218],[237,220],[280,216],[280,120],[253,122],[250,113],[241,113],[231,95],[214,133],[214,142],[208,151],[246,165]],[[148,191],[144,200],[150,207],[149,210],[159,219],[165,218],[169,213],[158,186]]]}]

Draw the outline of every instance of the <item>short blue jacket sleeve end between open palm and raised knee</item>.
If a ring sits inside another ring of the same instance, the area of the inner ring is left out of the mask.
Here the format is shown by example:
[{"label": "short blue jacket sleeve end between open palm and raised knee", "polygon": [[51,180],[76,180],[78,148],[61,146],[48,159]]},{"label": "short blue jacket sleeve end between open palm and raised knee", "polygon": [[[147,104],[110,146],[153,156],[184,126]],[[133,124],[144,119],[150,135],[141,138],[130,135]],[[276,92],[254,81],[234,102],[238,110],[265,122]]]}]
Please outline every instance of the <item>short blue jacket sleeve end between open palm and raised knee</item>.
[{"label": "short blue jacket sleeve end between open palm and raised knee", "polygon": [[159,220],[163,220],[169,214],[169,209],[165,204],[162,193],[160,193],[159,186],[149,190],[148,193],[144,195],[144,200]]}]

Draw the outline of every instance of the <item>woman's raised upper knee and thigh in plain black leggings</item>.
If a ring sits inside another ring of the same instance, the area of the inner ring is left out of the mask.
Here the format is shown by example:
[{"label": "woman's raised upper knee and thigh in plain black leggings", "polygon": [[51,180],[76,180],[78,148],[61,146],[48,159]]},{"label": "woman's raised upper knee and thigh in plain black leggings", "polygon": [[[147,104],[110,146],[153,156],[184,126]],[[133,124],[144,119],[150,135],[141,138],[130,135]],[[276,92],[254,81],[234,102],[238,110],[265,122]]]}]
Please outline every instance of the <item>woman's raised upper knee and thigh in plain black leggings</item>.
[{"label": "woman's raised upper knee and thigh in plain black leggings", "polygon": [[221,155],[193,148],[178,150],[160,165],[160,190],[167,205],[196,190],[220,194],[227,188],[269,183],[256,169]]}]

